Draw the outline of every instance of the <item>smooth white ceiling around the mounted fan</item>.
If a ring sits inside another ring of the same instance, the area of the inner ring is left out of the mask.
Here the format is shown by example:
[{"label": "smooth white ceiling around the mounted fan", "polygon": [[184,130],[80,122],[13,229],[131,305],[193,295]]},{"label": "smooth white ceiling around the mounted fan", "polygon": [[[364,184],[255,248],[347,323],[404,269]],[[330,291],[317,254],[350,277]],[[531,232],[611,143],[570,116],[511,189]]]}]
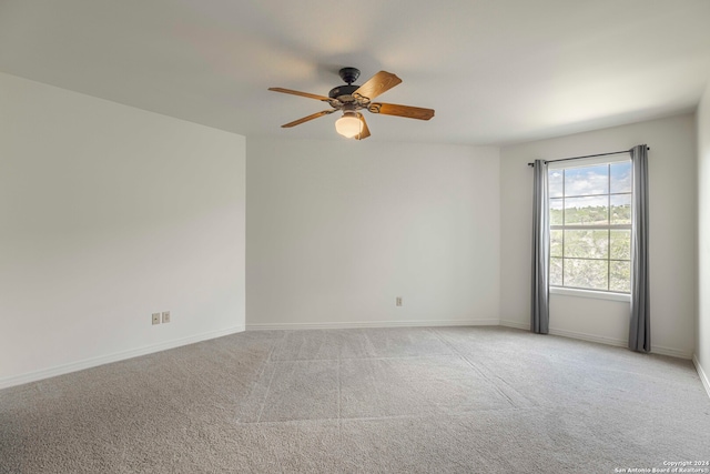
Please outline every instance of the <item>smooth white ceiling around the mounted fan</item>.
[{"label": "smooth white ceiling around the mounted fan", "polygon": [[233,131],[336,139],[337,70],[403,83],[368,141],[500,144],[691,111],[708,0],[0,0],[0,71]]}]

